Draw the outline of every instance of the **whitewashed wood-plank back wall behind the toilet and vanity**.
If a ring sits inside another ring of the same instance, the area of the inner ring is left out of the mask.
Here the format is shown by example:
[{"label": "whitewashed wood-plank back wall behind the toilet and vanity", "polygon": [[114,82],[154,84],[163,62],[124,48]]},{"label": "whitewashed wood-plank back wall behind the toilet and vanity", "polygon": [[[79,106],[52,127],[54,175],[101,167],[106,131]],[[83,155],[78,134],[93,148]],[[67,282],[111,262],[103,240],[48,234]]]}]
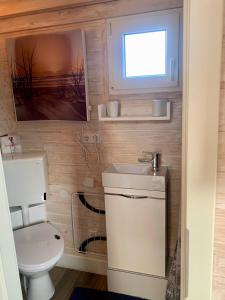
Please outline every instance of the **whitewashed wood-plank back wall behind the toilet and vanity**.
[{"label": "whitewashed wood-plank back wall behind the toilet and vanity", "polygon": [[[171,122],[100,123],[97,104],[113,97],[108,94],[106,21],[113,16],[134,14],[181,7],[181,0],[119,0],[85,8],[45,12],[34,16],[21,16],[0,20],[0,125],[3,131],[16,132],[22,138],[26,151],[44,150],[49,163],[48,217],[61,230],[65,238],[65,251],[78,255],[73,249],[70,201],[76,191],[102,191],[101,172],[110,163],[137,162],[141,152],[159,151],[162,164],[169,166],[170,186],[168,203],[169,250],[173,254],[177,239],[180,206],[181,177],[181,93],[157,93],[119,96],[123,104],[144,105],[155,97],[169,98],[172,102]],[[15,123],[11,84],[6,63],[5,38],[31,32],[56,31],[81,27],[85,30],[91,121],[81,122],[19,122]],[[20,31],[18,33],[18,31]],[[1,34],[2,32],[2,34]],[[4,33],[3,33],[4,32]],[[6,34],[7,33],[7,34]],[[2,88],[3,87],[3,88]],[[88,163],[77,142],[82,132],[98,132],[102,143],[96,148],[88,145]],[[97,163],[96,163],[97,161]],[[95,187],[85,188],[83,181],[93,177]]]}]

